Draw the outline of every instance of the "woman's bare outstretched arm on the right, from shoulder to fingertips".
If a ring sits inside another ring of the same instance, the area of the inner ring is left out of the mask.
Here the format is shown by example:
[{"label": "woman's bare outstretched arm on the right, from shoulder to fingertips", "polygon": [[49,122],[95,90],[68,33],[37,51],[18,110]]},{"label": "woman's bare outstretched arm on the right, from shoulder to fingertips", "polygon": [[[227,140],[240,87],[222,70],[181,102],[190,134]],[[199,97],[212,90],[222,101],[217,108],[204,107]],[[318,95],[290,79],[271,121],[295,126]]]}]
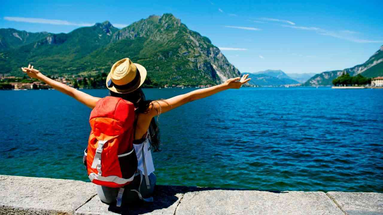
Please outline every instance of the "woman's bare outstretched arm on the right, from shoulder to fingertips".
[{"label": "woman's bare outstretched arm on the right, from shoulder to fingertips", "polygon": [[170,99],[152,101],[151,105],[149,106],[150,112],[148,117],[151,118],[160,113],[164,113],[170,111],[171,109],[177,108],[178,106],[186,104],[190,101],[205,98],[223,90],[239,89],[244,83],[250,80],[250,78],[247,77],[249,77],[249,75],[243,75],[242,78],[230,78],[225,83],[220,85],[194,90],[189,93],[174,96]]}]

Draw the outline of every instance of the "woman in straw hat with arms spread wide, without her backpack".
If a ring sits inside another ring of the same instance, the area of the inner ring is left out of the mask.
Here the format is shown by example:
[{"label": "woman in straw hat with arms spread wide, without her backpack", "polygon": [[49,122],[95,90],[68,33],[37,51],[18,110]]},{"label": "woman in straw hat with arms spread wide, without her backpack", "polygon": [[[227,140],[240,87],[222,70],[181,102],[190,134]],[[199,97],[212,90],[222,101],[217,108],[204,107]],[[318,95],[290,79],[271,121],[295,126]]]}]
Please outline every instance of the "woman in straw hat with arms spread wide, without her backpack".
[{"label": "woman in straw hat with arms spread wide, without her backpack", "polygon": [[[96,106],[97,101],[101,99],[76,90],[75,88],[58,81],[54,81],[51,78],[44,76],[30,64],[28,67],[21,67],[21,70],[28,74],[29,77],[45,82],[52,88],[72,96],[91,109],[93,109]],[[156,178],[153,173],[154,166],[150,149],[154,148],[155,151],[159,150],[159,132],[157,125],[155,124],[155,116],[170,111],[190,101],[205,98],[223,90],[238,89],[250,80],[250,78],[247,78],[248,76],[249,75],[243,75],[242,78],[230,78],[219,85],[194,90],[189,93],[174,96],[173,98],[150,101],[145,99],[144,93],[140,88],[146,78],[146,69],[142,65],[132,63],[129,58],[121,59],[113,64],[111,71],[106,78],[106,87],[110,90],[110,96],[116,96],[130,101],[136,108],[137,117],[135,120],[134,149],[137,154],[138,169],[142,172],[143,169],[146,168],[145,171],[147,171],[146,175],[148,176],[146,179],[143,179],[144,181],[141,181],[141,179],[139,179],[140,177],[135,177],[133,183],[129,185],[139,186],[143,197],[148,197],[153,192]],[[151,145],[151,147],[149,147],[149,145]],[[142,150],[144,150],[145,159],[142,159]],[[143,163],[145,165],[143,165]],[[144,184],[150,184],[150,186],[148,186],[150,189],[147,190],[146,186],[142,186]],[[97,186],[97,192],[103,202],[110,204],[116,200],[118,188]]]}]

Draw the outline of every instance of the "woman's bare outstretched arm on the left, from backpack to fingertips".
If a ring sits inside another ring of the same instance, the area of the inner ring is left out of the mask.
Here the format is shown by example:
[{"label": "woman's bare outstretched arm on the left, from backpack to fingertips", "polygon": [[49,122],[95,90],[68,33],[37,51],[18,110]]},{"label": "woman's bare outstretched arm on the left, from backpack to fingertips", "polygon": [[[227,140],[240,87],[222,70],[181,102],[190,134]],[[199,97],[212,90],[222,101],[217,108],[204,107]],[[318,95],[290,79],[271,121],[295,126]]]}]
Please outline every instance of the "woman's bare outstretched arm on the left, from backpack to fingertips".
[{"label": "woman's bare outstretched arm on the left, from backpack to fingertips", "polygon": [[91,96],[80,90],[76,90],[75,88],[72,88],[68,85],[46,77],[39,70],[34,69],[33,66],[31,66],[31,64],[29,64],[28,67],[21,67],[21,70],[23,70],[23,72],[26,73],[29,77],[36,78],[40,81],[45,82],[47,85],[60,91],[61,93],[67,94],[68,96],[72,96],[77,101],[85,104],[89,108],[93,109],[96,106],[97,101],[100,99],[98,97]]}]

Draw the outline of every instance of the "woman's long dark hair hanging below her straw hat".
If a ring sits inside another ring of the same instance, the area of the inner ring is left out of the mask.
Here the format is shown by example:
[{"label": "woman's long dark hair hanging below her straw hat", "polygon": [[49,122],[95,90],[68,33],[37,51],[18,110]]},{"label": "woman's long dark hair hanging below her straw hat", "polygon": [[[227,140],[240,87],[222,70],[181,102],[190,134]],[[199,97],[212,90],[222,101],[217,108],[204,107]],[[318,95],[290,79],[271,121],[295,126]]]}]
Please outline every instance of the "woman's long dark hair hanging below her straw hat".
[{"label": "woman's long dark hair hanging below her straw hat", "polygon": [[[136,109],[136,113],[143,113],[146,114],[149,112],[149,105],[153,100],[146,100],[144,91],[142,91],[141,88],[138,88],[137,90],[134,90],[131,93],[115,93],[113,91],[109,91],[110,96],[119,97],[122,99],[125,99],[126,101],[130,101],[134,104],[134,107]],[[158,113],[160,113],[159,110],[156,109]],[[158,121],[157,116],[157,121]],[[135,134],[134,134],[135,135]],[[149,135],[151,137],[151,145],[154,148],[154,151],[161,151],[160,148],[160,130],[157,126],[157,123],[155,122],[154,117],[150,121],[149,125]]]}]

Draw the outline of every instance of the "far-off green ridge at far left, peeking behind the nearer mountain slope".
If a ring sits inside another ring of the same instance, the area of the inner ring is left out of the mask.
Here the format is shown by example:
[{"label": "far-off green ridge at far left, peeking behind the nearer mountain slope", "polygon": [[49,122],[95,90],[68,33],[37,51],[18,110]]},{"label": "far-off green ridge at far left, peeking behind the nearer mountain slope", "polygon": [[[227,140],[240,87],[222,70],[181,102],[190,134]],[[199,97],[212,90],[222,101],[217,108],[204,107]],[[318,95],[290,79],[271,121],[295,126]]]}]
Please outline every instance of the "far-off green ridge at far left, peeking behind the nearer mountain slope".
[{"label": "far-off green ridge at far left, peeking behind the nearer mountain slope", "polygon": [[31,33],[13,28],[0,29],[0,51],[15,49],[20,46],[37,42],[47,36],[47,32]]}]

